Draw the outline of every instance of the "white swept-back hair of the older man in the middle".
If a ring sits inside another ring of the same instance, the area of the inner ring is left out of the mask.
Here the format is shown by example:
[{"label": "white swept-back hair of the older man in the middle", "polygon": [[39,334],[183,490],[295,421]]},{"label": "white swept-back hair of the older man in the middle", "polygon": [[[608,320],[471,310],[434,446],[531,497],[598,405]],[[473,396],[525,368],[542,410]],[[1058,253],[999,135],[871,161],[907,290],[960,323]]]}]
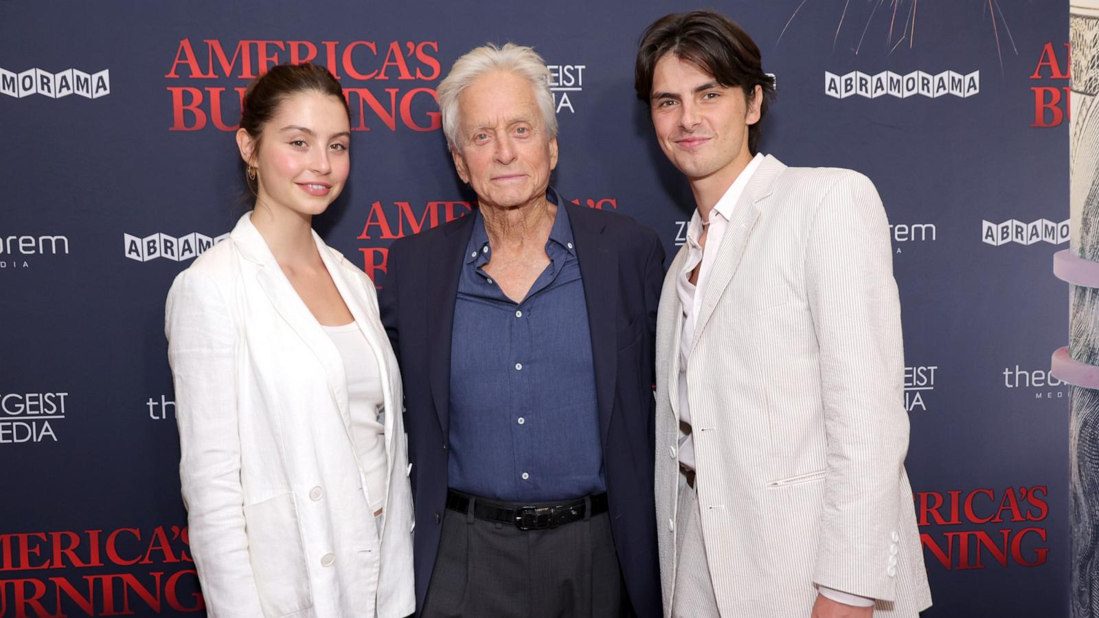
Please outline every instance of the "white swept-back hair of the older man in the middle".
[{"label": "white swept-back hair of the older man in the middle", "polygon": [[557,136],[557,113],[554,111],[553,92],[550,90],[550,69],[533,47],[493,43],[474,47],[451,67],[451,73],[439,84],[439,109],[443,115],[443,134],[452,148],[462,150],[458,143],[458,97],[478,77],[506,71],[526,79],[534,91],[534,100],[542,112],[546,137]]}]

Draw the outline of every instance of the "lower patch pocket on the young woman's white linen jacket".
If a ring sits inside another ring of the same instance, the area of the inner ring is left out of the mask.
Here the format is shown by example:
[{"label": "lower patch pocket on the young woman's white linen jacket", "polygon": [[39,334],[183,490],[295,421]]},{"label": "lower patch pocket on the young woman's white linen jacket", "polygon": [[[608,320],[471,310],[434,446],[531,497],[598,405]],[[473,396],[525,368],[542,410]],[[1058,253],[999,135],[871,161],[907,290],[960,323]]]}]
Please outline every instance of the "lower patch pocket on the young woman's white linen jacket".
[{"label": "lower patch pocket on the young woman's white linen jacket", "polygon": [[293,494],[245,506],[244,520],[264,615],[287,616],[311,607],[313,598]]}]

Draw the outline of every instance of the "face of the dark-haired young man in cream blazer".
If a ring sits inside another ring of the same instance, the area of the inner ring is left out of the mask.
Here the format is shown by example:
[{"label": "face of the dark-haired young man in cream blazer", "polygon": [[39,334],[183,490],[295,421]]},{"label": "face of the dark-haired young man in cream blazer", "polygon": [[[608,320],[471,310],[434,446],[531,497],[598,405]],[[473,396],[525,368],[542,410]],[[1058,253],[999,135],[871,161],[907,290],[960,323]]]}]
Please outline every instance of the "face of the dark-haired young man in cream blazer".
[{"label": "face of the dark-haired young man in cream blazer", "polygon": [[721,86],[698,66],[665,54],[653,70],[650,112],[660,150],[691,179],[731,175],[752,159],[748,126],[759,121],[763,91]]}]

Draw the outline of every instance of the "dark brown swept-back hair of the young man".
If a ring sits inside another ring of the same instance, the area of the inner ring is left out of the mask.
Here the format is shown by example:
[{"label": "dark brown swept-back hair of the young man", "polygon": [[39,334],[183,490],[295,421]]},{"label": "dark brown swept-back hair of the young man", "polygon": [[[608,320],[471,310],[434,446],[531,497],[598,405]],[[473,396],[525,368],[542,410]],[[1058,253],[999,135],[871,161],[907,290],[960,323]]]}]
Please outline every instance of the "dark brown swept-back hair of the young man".
[{"label": "dark brown swept-back hair of the young man", "polygon": [[759,121],[748,128],[748,150],[755,154],[759,124],[767,114],[767,103],[775,96],[775,78],[763,71],[759,47],[736,22],[715,11],[670,13],[653,22],[641,35],[633,87],[637,98],[650,102],[653,71],[665,54],[675,54],[712,75],[726,88],[741,88],[745,99],[756,86],[763,88]]}]

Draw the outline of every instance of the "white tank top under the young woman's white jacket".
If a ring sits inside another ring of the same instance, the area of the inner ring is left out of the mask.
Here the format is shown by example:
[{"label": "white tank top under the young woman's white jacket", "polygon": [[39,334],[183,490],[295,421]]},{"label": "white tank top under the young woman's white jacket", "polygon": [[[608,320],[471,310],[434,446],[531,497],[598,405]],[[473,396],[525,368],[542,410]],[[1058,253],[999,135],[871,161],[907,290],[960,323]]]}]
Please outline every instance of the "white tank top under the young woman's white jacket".
[{"label": "white tank top under the young woman's white jacket", "polygon": [[378,419],[385,402],[381,373],[374,350],[355,322],[323,328],[343,357],[351,434],[366,474],[370,510],[376,512],[386,504],[386,429]]}]

